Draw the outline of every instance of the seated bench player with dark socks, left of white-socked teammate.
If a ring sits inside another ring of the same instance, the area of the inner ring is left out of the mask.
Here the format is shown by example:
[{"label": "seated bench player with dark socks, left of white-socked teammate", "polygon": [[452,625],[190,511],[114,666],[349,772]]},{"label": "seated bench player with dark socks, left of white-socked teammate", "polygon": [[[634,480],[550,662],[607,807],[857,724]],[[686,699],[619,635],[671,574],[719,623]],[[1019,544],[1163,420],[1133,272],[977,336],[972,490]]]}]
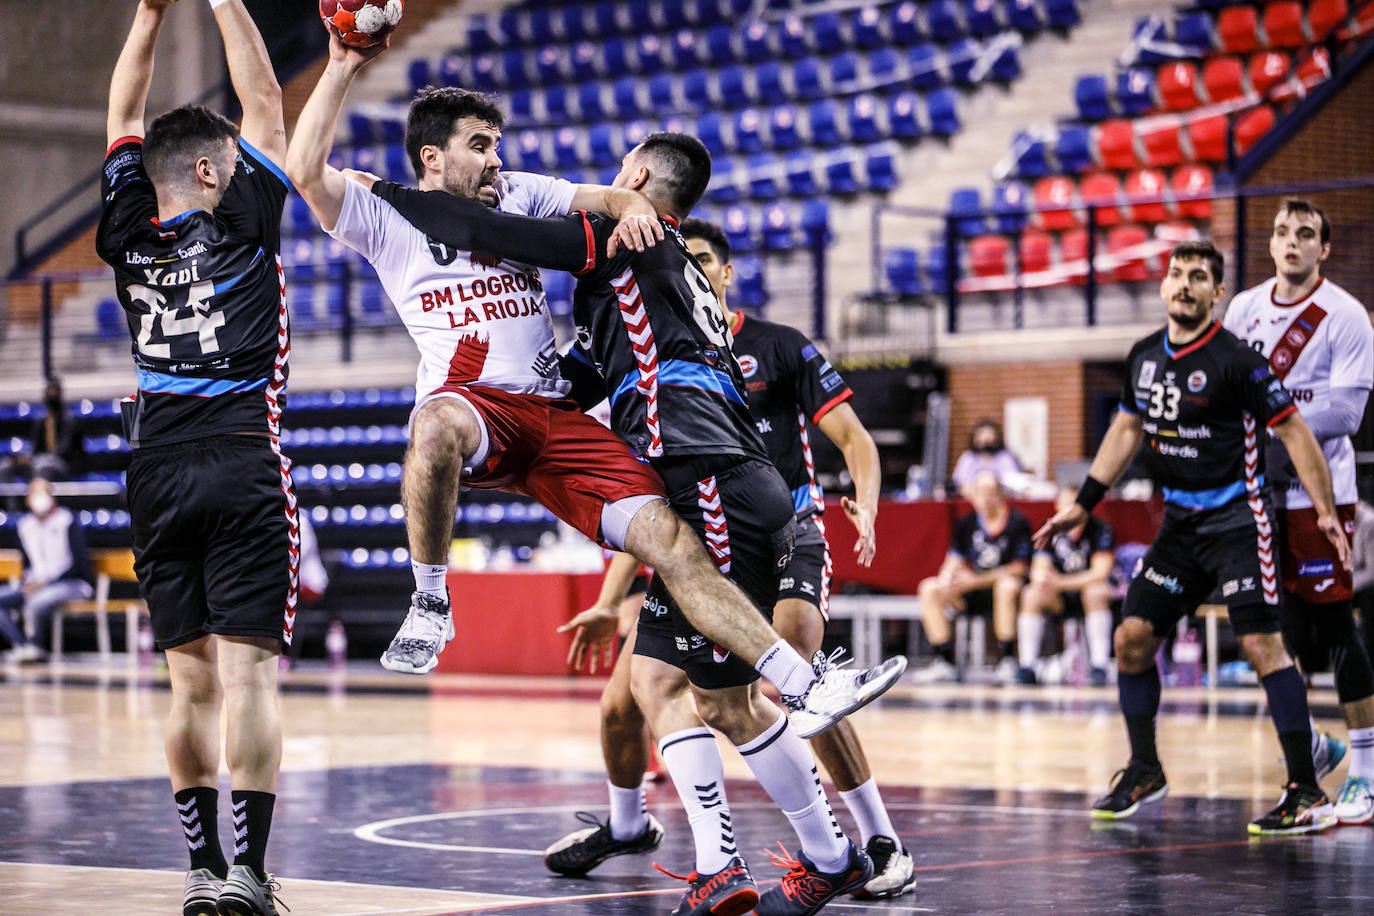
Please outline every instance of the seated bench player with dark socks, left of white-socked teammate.
[{"label": "seated bench player with dark socks, left of white-socked teammate", "polygon": [[998,636],[998,681],[1017,676],[1017,596],[1030,563],[1030,522],[1007,504],[992,471],[969,485],[969,512],[955,523],[954,544],[940,573],[921,582],[921,617],[936,661],[916,672],[918,684],[955,681],[954,618],[992,611]]}]

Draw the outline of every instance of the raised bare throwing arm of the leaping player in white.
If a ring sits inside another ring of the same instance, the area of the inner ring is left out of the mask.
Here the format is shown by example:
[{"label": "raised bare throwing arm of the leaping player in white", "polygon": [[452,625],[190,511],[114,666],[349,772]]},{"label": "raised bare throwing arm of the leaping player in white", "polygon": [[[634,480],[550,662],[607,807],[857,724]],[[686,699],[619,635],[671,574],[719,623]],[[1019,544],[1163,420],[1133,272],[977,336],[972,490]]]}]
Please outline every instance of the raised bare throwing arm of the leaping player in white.
[{"label": "raised bare throwing arm of the leaping player in white", "polygon": [[301,110],[286,150],[286,174],[326,232],[338,222],[348,187],[344,174],[328,163],[339,110],[357,71],[385,48],[386,43],[365,49],[348,48],[337,36],[330,36],[330,62]]}]

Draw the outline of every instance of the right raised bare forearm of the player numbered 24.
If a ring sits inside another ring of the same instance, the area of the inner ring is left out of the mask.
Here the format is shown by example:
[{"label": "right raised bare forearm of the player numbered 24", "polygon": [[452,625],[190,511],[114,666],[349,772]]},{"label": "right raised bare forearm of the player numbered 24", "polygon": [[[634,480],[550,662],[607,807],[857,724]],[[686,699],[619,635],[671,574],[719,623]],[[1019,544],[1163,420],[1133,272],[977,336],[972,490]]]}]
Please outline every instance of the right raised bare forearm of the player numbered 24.
[{"label": "right raised bare forearm of the player numbered 24", "polygon": [[243,108],[239,136],[272,162],[280,163],[286,159],[282,87],[276,81],[262,36],[243,7],[243,0],[220,0],[212,7],[224,38],[229,82]]}]

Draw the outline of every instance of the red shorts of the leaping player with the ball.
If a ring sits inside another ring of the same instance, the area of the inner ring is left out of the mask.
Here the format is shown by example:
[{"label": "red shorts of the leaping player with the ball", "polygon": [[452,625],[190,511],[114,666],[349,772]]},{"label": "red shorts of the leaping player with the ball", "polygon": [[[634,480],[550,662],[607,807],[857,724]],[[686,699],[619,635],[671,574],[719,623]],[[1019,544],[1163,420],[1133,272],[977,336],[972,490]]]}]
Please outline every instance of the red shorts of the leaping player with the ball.
[{"label": "red shorts of the leaping player with the ball", "polygon": [[658,474],[573,401],[481,387],[440,390],[466,400],[486,424],[486,459],[464,475],[463,486],[523,493],[602,545],[606,503],[668,497]]}]

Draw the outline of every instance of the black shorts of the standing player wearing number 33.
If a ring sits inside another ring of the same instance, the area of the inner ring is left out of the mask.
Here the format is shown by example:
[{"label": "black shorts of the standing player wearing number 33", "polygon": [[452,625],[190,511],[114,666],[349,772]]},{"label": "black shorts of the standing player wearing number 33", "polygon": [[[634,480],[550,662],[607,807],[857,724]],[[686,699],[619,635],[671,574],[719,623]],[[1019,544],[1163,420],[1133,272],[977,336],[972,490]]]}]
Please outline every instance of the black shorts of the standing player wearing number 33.
[{"label": "black shorts of the standing player wearing number 33", "polygon": [[1268,500],[1234,500],[1215,509],[1167,507],[1154,544],[1127,588],[1121,617],[1165,636],[1213,589],[1237,636],[1279,630],[1279,580]]}]

